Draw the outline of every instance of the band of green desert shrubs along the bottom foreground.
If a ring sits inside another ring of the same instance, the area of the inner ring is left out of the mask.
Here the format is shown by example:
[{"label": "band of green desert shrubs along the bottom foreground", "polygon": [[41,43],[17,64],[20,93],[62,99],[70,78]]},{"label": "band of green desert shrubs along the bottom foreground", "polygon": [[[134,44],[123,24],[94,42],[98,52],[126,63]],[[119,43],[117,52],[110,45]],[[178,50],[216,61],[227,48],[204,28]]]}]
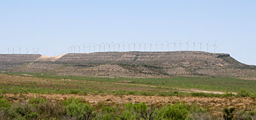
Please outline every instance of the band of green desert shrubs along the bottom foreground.
[{"label": "band of green desert shrubs along the bottom foreground", "polygon": [[[253,107],[252,107],[253,108]],[[80,98],[49,101],[31,98],[28,101],[9,103],[1,99],[0,119],[77,119],[77,120],[197,120],[197,119],[255,119],[252,109],[223,109],[221,114],[212,114],[200,105],[175,103],[147,105],[146,103],[98,103],[90,105]]]}]

